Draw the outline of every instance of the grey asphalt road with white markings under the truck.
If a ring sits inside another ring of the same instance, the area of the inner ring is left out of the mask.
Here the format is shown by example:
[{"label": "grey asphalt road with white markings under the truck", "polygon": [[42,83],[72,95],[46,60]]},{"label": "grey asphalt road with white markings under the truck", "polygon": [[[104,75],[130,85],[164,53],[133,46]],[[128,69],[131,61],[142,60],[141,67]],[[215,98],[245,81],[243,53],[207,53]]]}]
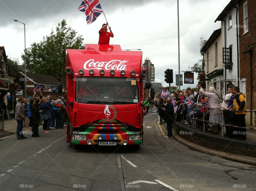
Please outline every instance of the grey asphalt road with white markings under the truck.
[{"label": "grey asphalt road with white markings under the truck", "polygon": [[[81,147],[66,130],[0,139],[1,190],[256,190],[256,167],[193,151],[159,127],[155,109],[144,118],[144,143]],[[162,132],[162,131],[163,132]]]}]

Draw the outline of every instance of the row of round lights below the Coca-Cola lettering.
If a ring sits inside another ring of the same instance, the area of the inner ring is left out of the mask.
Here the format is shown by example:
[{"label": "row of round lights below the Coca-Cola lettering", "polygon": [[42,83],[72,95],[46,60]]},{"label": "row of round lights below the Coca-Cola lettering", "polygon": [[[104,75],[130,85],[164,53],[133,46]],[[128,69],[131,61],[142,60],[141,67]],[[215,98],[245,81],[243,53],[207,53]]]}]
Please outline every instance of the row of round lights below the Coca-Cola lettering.
[{"label": "row of round lights below the Coca-Cola lettering", "polygon": [[[71,73],[72,73],[72,69],[71,69],[70,67],[66,67],[65,71],[66,71],[67,74],[71,74]],[[83,72],[83,69],[79,69],[79,70],[78,70],[78,74],[82,75],[83,73],[84,73],[84,72]],[[104,75],[104,74],[105,74],[105,70],[101,69],[101,70],[99,71],[99,73],[100,73],[101,75]],[[78,75],[78,74],[75,73],[75,75]],[[90,69],[90,70],[89,70],[89,74],[90,74],[90,75],[93,75],[93,74],[94,74],[94,70],[93,70],[93,69]],[[111,75],[114,75],[114,74],[115,74],[115,70],[110,70],[110,74],[111,74]],[[121,70],[121,71],[120,71],[120,74],[121,74],[122,76],[124,76],[124,75],[125,75],[125,70]],[[134,75],[136,75],[136,72],[135,72],[134,70],[132,70],[132,71],[130,72],[130,74],[131,74],[132,76],[134,76]],[[147,69],[143,68],[143,69],[141,70],[140,74],[141,74],[142,76],[146,76],[146,75],[147,75]],[[138,75],[136,75],[136,76],[138,76]]]}]

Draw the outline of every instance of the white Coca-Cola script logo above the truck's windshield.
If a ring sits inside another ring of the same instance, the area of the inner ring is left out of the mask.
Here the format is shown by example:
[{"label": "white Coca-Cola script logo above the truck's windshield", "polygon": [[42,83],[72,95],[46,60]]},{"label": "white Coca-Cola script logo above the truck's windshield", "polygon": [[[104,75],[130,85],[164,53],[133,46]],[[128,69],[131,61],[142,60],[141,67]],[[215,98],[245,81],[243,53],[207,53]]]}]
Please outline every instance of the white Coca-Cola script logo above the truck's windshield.
[{"label": "white Coca-Cola script logo above the truck's windshield", "polygon": [[128,61],[129,60],[110,60],[109,62],[95,62],[94,59],[90,59],[85,62],[83,68],[85,68],[85,70],[125,70],[127,65],[124,63]]}]

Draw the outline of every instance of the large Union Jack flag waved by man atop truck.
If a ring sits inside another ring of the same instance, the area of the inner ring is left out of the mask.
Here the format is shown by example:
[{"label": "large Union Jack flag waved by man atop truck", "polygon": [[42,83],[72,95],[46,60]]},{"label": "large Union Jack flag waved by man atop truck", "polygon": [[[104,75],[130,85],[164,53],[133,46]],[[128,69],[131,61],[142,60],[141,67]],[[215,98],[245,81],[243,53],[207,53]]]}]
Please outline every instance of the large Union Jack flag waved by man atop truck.
[{"label": "large Union Jack flag waved by man atop truck", "polygon": [[83,0],[82,4],[78,7],[78,10],[86,14],[88,25],[94,22],[103,12],[99,0]]}]

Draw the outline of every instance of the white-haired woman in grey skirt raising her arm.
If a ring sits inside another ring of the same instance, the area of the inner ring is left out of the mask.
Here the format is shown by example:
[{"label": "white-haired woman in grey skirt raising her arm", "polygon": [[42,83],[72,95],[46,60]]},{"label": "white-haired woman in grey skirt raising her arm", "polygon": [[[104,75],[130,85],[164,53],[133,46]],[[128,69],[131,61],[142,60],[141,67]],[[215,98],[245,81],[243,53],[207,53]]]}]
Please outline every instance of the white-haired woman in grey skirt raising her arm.
[{"label": "white-haired woman in grey skirt raising her arm", "polygon": [[[213,128],[213,134],[219,134],[218,124],[222,123],[221,110],[211,109],[220,107],[220,95],[214,87],[209,87],[209,92],[205,92],[203,88],[198,84],[197,87],[202,92],[202,95],[208,97],[208,107],[210,108],[209,126]],[[216,123],[213,123],[216,122]]]}]

